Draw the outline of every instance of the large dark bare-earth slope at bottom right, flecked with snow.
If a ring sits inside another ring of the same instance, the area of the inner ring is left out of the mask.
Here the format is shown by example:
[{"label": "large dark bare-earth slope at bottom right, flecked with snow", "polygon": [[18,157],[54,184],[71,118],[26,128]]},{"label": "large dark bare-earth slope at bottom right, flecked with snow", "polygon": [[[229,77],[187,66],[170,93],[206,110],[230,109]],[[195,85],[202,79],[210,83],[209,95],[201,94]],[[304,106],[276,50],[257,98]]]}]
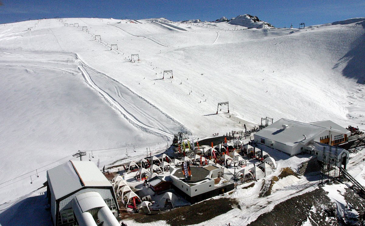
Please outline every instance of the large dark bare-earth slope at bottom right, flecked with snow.
[{"label": "large dark bare-earth slope at bottom right, flecked with snow", "polygon": [[249,226],[300,226],[307,219],[312,225],[339,225],[336,208],[322,188],[277,204],[272,211],[260,215]]}]

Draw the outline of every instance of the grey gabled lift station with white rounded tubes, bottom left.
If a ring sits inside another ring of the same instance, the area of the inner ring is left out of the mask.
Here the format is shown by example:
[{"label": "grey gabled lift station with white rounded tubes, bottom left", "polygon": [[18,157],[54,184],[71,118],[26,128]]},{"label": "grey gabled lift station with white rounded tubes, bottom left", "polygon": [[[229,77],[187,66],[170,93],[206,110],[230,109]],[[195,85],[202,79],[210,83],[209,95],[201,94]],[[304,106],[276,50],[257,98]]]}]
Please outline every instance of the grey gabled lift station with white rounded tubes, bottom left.
[{"label": "grey gabled lift station with white rounded tubes, bottom left", "polygon": [[93,162],[67,161],[47,170],[47,198],[54,226],[119,225],[113,186]]}]

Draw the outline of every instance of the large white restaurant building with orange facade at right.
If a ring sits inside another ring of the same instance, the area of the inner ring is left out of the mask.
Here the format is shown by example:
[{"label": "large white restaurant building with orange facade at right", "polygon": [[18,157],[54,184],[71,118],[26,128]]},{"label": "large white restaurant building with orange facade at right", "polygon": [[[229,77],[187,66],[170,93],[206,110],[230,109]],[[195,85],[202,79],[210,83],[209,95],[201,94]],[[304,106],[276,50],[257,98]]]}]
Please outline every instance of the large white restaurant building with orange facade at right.
[{"label": "large white restaurant building with orange facade at right", "polygon": [[294,156],[313,142],[337,145],[346,142],[348,136],[349,130],[329,120],[304,123],[281,118],[255,133],[254,140]]}]

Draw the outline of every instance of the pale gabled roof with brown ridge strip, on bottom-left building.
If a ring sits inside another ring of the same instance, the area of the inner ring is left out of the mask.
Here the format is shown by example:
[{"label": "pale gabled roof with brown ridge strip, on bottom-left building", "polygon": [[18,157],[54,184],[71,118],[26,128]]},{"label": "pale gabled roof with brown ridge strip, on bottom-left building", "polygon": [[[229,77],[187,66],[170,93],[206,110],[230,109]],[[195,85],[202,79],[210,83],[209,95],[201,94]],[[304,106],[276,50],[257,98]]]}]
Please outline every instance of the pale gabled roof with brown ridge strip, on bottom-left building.
[{"label": "pale gabled roof with brown ridge strip, on bottom-left building", "polygon": [[67,161],[47,170],[47,180],[56,199],[82,187],[112,187],[91,161]]}]

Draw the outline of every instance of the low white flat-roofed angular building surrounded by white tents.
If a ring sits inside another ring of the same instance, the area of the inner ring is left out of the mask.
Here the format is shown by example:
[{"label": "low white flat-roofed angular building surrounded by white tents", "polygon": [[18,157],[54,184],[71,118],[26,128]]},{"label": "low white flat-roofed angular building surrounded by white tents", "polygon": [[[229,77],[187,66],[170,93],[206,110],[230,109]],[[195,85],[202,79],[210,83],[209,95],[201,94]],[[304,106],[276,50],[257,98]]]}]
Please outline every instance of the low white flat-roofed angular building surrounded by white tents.
[{"label": "low white flat-roofed angular building surrounded by white tents", "polygon": [[170,167],[170,179],[174,190],[188,202],[194,204],[204,199],[234,189],[233,182],[223,178],[222,169],[215,165],[190,165],[191,177],[185,178],[181,167]]}]

